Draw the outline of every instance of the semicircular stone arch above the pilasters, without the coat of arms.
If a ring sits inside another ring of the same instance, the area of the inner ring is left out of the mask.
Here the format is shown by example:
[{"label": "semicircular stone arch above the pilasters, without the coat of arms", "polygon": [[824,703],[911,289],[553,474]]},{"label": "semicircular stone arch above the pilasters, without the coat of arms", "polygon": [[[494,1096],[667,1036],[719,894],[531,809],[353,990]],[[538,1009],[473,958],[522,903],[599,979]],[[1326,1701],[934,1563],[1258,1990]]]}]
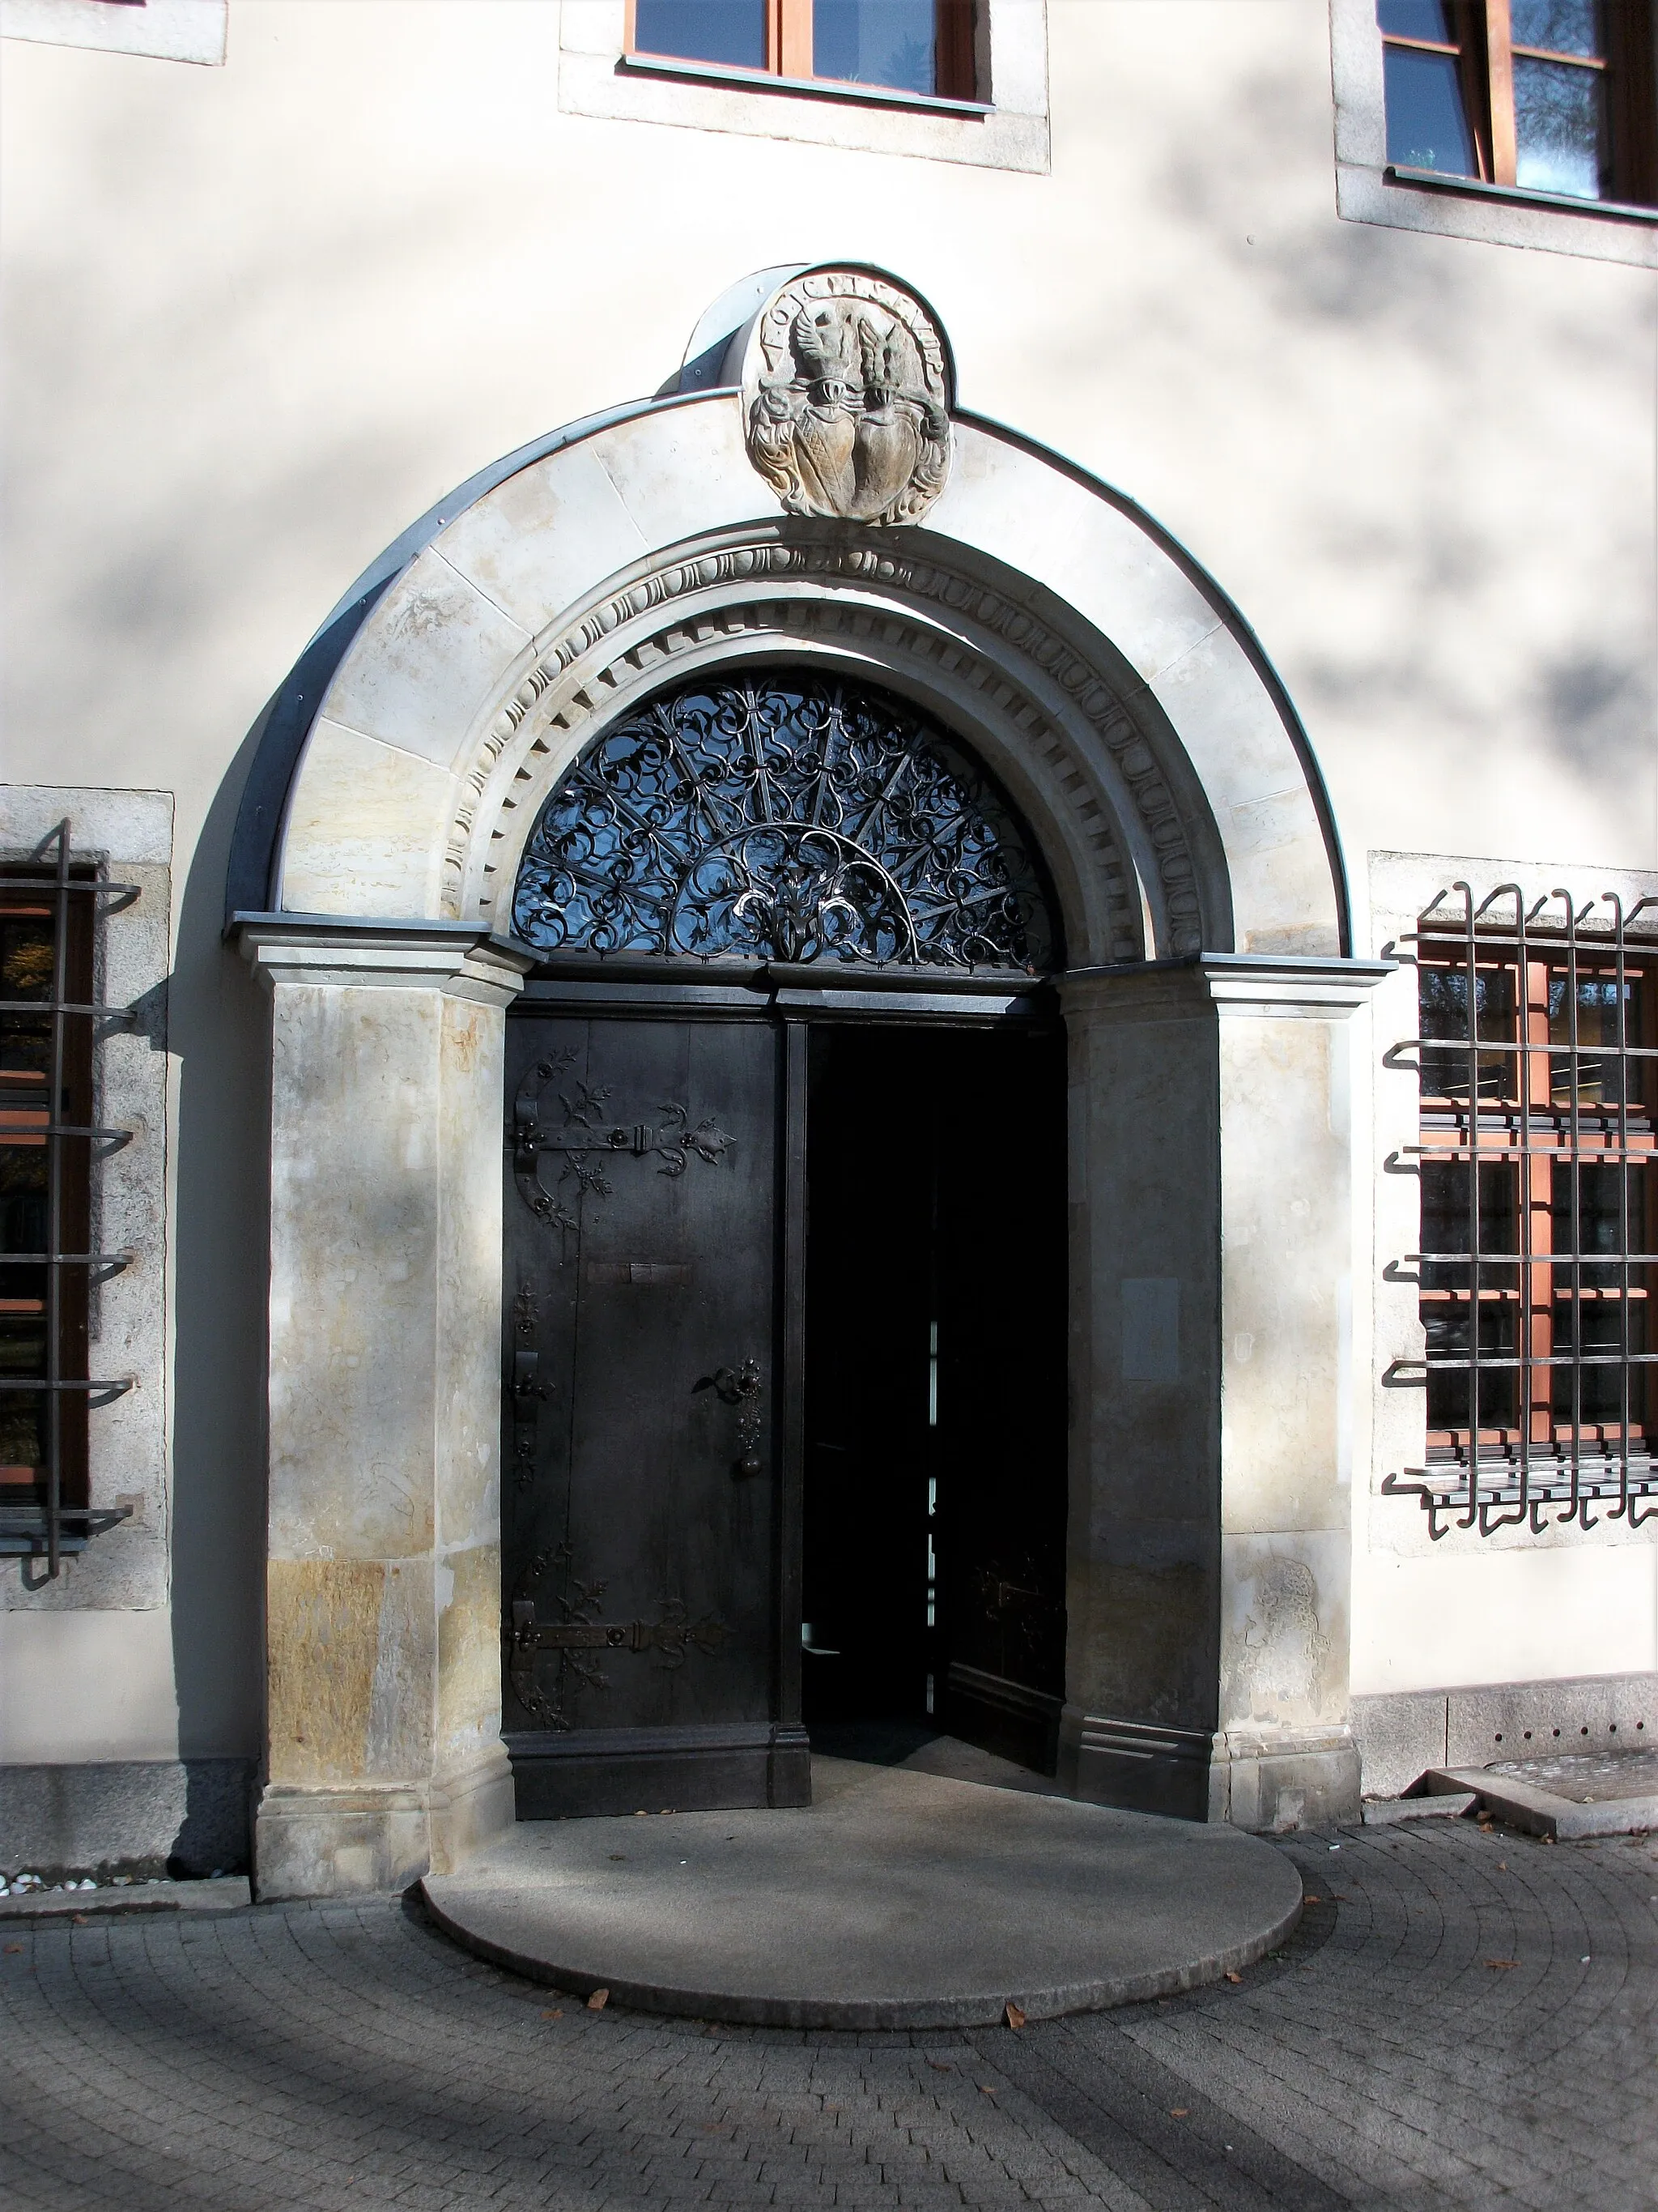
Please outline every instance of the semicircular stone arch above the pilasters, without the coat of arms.
[{"label": "semicircular stone arch above the pilasters, without the coat of arms", "polygon": [[[254,770],[241,902],[493,922],[524,810],[595,714],[670,668],[802,648],[964,719],[1024,785],[1085,960],[1340,953],[1329,805],[1225,595],[1081,471],[953,427],[951,482],[911,529],[767,513],[736,392],[493,484],[382,588],[321,699],[312,679],[279,836],[281,763]],[[279,701],[272,752],[294,719]]]}]

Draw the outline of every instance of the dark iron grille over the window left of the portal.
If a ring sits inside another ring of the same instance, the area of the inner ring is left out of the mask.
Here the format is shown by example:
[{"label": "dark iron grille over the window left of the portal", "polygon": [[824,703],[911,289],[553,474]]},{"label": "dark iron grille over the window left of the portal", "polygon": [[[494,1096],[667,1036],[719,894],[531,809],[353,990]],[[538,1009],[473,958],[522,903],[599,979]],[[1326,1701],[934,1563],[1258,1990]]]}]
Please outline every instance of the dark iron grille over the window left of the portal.
[{"label": "dark iron grille over the window left of the portal", "polygon": [[88,1495],[88,1409],[133,1387],[91,1376],[88,1343],[95,1285],[133,1261],[91,1250],[93,1159],[130,1141],[95,1126],[97,1046],[137,1020],[95,1004],[95,938],[137,896],[75,858],[66,821],[0,865],[0,1553],[49,1577],[130,1513]]}]

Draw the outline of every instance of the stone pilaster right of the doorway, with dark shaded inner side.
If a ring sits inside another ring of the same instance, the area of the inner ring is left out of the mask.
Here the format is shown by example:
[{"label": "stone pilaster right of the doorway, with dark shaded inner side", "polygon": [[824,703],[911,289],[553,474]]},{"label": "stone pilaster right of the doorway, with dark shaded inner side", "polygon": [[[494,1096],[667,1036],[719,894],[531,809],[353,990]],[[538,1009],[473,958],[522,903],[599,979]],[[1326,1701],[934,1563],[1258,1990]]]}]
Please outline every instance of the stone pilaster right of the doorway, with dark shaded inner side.
[{"label": "stone pilaster right of the doorway, with dark shaded inner side", "polygon": [[1074,1245],[1061,1778],[1353,1816],[1349,1015],[1382,962],[1066,982]]}]

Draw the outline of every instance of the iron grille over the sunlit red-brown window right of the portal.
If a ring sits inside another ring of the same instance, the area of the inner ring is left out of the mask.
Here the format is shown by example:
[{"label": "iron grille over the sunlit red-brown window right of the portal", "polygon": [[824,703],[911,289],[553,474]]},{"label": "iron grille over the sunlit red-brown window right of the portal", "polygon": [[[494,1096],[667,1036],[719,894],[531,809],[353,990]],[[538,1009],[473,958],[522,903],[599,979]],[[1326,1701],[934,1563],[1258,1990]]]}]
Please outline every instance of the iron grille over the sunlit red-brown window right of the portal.
[{"label": "iron grille over the sunlit red-brown window right of the portal", "polygon": [[[1457,905],[1457,900],[1461,905]],[[1658,1515],[1658,933],[1567,891],[1468,883],[1415,945],[1426,1467],[1435,1537]]]}]

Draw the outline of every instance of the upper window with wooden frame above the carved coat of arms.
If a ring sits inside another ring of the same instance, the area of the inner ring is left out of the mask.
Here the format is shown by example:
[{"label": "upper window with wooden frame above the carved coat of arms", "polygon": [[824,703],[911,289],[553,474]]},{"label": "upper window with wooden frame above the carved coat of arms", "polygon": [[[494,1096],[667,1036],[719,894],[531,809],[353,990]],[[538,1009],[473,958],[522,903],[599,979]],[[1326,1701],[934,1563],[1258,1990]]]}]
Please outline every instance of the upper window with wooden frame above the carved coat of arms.
[{"label": "upper window with wooden frame above the carved coat of arms", "polygon": [[973,0],[628,0],[628,55],[975,100]]}]

